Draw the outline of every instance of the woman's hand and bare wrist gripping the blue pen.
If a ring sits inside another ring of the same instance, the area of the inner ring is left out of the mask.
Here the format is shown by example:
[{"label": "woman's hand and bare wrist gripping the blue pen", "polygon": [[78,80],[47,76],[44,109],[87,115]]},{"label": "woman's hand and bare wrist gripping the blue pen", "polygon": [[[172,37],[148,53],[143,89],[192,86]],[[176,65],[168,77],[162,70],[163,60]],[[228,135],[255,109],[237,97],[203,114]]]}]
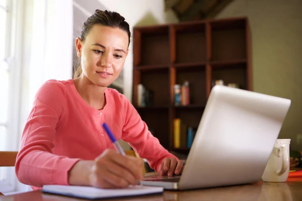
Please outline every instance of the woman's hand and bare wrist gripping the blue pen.
[{"label": "woman's hand and bare wrist gripping the blue pen", "polygon": [[94,161],[80,160],[68,172],[70,185],[122,188],[142,179],[143,160],[106,149]]}]

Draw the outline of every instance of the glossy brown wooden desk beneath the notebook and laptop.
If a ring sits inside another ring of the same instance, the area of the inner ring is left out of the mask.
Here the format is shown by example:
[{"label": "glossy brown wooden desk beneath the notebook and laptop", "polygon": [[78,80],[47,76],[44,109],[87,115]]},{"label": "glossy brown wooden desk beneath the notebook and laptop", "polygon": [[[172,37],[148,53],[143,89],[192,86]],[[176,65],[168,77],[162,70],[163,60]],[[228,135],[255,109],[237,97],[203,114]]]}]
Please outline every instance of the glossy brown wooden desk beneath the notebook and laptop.
[{"label": "glossy brown wooden desk beneath the notebook and laptop", "polygon": [[[186,191],[165,191],[162,195],[138,196],[120,198],[114,200],[301,200],[302,181],[301,179],[288,179],[284,183],[257,182],[254,184],[237,185],[228,187],[207,188]],[[1,201],[83,201],[74,197],[60,196],[41,191],[31,191],[11,196],[0,196]],[[104,200],[104,199],[103,199]],[[106,199],[113,200],[113,199]]]}]

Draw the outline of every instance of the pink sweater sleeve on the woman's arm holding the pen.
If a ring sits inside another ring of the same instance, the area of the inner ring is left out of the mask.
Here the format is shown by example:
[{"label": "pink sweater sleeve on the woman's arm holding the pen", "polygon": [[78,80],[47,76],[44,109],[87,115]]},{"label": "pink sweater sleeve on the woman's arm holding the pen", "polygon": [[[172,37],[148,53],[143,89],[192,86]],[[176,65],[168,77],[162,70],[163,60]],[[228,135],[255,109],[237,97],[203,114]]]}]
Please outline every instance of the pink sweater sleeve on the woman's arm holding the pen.
[{"label": "pink sweater sleeve on the woman's arm holding the pen", "polygon": [[68,185],[68,171],[79,159],[52,154],[56,126],[64,114],[64,89],[59,82],[47,81],[35,96],[16,159],[15,171],[22,183]]}]

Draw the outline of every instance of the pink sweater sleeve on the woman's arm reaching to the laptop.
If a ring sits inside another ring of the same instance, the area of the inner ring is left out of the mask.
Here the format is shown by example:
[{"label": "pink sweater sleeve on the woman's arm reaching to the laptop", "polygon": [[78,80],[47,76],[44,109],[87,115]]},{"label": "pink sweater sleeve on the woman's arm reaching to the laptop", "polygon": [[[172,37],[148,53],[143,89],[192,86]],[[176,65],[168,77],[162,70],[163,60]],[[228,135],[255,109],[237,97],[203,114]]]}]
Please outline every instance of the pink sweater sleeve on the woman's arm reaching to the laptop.
[{"label": "pink sweater sleeve on the woman's arm reaching to the laptop", "polygon": [[134,151],[147,160],[149,166],[155,171],[161,170],[162,161],[165,158],[178,158],[169,153],[160,141],[150,133],[148,127],[129,102],[124,98],[125,123],[123,127],[122,140],[128,142]]}]

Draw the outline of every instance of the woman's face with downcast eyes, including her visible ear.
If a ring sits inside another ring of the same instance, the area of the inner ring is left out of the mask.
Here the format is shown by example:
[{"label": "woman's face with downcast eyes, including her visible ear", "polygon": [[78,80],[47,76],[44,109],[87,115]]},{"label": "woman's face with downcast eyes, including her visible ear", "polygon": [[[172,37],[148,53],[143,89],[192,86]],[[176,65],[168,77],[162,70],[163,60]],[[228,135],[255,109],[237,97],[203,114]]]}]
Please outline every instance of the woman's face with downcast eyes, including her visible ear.
[{"label": "woman's face with downcast eyes, including her visible ear", "polygon": [[85,41],[76,40],[83,75],[95,85],[106,87],[120,74],[128,49],[128,35],[119,28],[94,25]]}]

